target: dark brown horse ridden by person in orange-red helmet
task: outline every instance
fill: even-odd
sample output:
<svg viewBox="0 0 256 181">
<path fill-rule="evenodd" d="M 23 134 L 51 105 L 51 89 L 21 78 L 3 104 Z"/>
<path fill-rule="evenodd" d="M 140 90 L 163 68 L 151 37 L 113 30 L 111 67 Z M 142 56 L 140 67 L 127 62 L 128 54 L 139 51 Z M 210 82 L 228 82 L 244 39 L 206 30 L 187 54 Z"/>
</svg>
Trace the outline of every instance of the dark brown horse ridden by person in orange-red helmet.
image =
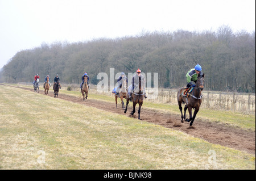
<svg viewBox="0 0 256 181">
<path fill-rule="evenodd" d="M 133 94 L 131 95 L 131 100 L 133 100 L 133 111 L 131 111 L 131 115 L 134 115 L 135 106 L 136 106 L 136 104 L 139 104 L 138 119 L 141 119 L 141 106 L 143 104 L 144 94 L 145 94 L 145 92 L 143 90 L 144 90 L 144 82 L 141 81 L 141 79 L 139 79 L 139 92 L 133 92 Z M 126 98 L 125 113 L 127 111 L 128 104 L 129 104 L 129 95 L 127 95 L 127 98 Z"/>
</svg>

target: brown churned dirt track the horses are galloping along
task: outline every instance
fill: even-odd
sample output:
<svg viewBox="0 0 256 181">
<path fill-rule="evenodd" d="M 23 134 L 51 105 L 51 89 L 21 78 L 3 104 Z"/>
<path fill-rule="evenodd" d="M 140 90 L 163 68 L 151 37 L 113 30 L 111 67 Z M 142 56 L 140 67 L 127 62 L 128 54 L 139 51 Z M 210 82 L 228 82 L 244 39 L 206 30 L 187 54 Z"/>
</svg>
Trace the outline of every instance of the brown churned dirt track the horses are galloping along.
<svg viewBox="0 0 256 181">
<path fill-rule="evenodd" d="M 13 87 L 30 90 L 34 92 L 34 90 L 25 87 Z M 39 93 L 44 94 L 43 90 L 40 90 Z M 48 96 L 53 96 L 53 92 L 49 92 Z M 126 116 L 129 116 L 131 111 L 130 107 L 127 113 L 125 114 L 121 109 L 121 104 L 118 104 L 119 108 L 116 109 L 114 102 L 109 103 L 100 100 L 90 99 L 90 96 L 88 96 L 87 100 L 83 101 L 82 94 L 81 98 L 77 98 L 76 96 L 61 94 L 60 91 L 59 99 L 84 104 L 86 106 L 96 107 L 101 110 L 119 113 L 121 115 Z M 135 112 L 135 115 L 138 115 L 138 110 Z M 195 120 L 195 126 L 191 128 L 189 127 L 188 123 L 180 123 L 180 116 L 171 115 L 170 113 L 160 113 L 152 109 L 148 109 L 145 107 L 143 108 L 143 106 L 141 111 L 141 118 L 142 121 L 147 121 L 149 123 L 162 125 L 166 128 L 179 130 L 187 134 L 190 134 L 194 137 L 202 138 L 203 140 L 206 140 L 213 144 L 219 144 L 222 146 L 227 146 L 229 148 L 247 151 L 247 153 L 250 154 L 255 154 L 255 131 L 245 131 L 243 129 L 230 127 L 229 125 L 225 124 L 200 120 Z"/>
</svg>

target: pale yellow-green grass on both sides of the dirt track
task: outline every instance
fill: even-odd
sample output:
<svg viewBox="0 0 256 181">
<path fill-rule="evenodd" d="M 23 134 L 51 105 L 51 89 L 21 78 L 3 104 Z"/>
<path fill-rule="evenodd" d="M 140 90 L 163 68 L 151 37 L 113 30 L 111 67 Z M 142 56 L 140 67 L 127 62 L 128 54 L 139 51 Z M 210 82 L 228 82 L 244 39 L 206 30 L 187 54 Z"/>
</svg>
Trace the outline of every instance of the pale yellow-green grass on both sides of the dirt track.
<svg viewBox="0 0 256 181">
<path fill-rule="evenodd" d="M 0 169 L 255 169 L 255 155 L 27 90 L 0 85 L 0 108 Z"/>
</svg>

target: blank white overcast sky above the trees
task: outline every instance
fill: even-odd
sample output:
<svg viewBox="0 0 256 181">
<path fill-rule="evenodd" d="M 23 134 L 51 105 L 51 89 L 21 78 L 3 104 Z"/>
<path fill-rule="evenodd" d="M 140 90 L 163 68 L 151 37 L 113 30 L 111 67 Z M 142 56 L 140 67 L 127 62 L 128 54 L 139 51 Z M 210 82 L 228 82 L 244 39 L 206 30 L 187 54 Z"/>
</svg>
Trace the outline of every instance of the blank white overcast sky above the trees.
<svg viewBox="0 0 256 181">
<path fill-rule="evenodd" d="M 0 0 L 0 69 L 43 42 L 216 31 L 223 24 L 255 31 L 255 0 Z"/>
</svg>

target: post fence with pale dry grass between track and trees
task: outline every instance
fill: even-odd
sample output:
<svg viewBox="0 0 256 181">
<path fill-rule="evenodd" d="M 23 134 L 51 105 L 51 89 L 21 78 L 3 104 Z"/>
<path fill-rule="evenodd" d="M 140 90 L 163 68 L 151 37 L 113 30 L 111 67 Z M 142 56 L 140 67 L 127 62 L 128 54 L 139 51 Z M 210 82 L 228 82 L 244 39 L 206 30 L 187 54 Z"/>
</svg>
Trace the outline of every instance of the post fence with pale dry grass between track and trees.
<svg viewBox="0 0 256 181">
<path fill-rule="evenodd" d="M 22 85 L 32 85 L 30 82 L 19 83 Z M 62 83 L 64 90 L 80 91 L 80 85 Z M 113 96 L 111 92 L 98 92 L 96 85 L 90 85 L 90 92 L 93 94 Z M 148 96 L 152 94 L 148 93 Z M 151 97 L 152 98 L 152 97 Z M 255 113 L 255 94 L 241 94 L 238 92 L 213 92 L 203 91 L 203 102 L 201 107 L 213 110 L 237 111 L 243 113 Z M 154 99 L 147 99 L 149 102 L 177 104 L 176 89 L 158 89 L 158 96 Z"/>
</svg>

